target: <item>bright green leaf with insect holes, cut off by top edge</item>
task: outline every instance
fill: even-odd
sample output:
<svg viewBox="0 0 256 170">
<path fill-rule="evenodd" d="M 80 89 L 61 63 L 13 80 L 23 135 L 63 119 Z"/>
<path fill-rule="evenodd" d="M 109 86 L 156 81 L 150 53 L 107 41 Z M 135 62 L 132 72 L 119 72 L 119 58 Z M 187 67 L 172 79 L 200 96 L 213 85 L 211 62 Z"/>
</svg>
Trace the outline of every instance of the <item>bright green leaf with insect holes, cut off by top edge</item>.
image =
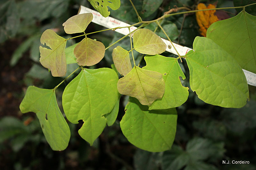
<svg viewBox="0 0 256 170">
<path fill-rule="evenodd" d="M 117 10 L 120 7 L 120 0 L 89 0 L 90 4 L 100 12 L 103 17 L 108 17 L 110 12 L 108 6 L 112 10 Z"/>
</svg>

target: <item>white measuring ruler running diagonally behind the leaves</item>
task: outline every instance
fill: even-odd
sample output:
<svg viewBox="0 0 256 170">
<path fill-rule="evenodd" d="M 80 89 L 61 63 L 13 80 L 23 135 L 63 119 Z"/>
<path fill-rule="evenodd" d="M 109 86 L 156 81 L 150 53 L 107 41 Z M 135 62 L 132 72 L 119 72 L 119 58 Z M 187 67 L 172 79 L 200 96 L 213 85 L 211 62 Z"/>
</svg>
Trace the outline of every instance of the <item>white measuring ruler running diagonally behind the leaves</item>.
<svg viewBox="0 0 256 170">
<path fill-rule="evenodd" d="M 115 18 L 112 18 L 112 17 L 107 17 L 107 18 L 102 17 L 102 15 L 99 12 L 91 10 L 90 8 L 87 8 L 87 7 L 82 6 L 82 5 L 80 6 L 78 14 L 83 14 L 83 13 L 88 13 L 88 12 L 92 13 L 92 15 L 93 15 L 93 19 L 92 19 L 93 23 L 104 26 L 106 28 L 130 26 L 129 24 L 126 24 L 126 23 L 124 23 L 122 21 L 119 21 L 119 20 L 117 20 Z M 130 27 L 130 29 L 131 29 L 131 31 L 134 31 L 135 29 L 137 29 L 137 27 L 132 26 L 132 27 Z M 115 31 L 120 33 L 120 34 L 123 34 L 123 35 L 129 34 L 129 29 L 128 28 L 119 28 L 119 29 L 116 29 Z M 188 53 L 188 51 L 192 50 L 191 48 L 188 48 L 186 46 L 181 46 L 181 45 L 175 44 L 175 43 L 171 44 L 171 42 L 168 41 L 167 39 L 163 39 L 163 38 L 161 38 L 161 39 L 164 41 L 164 43 L 167 46 L 165 51 L 168 51 L 168 52 L 173 53 L 175 55 L 178 55 L 178 54 L 174 50 L 172 44 L 175 46 L 175 48 L 180 53 L 180 55 L 185 55 L 186 53 Z M 252 85 L 252 86 L 256 86 L 256 74 L 254 74 L 250 71 L 244 70 L 244 69 L 243 69 L 243 71 L 244 71 L 247 83 Z"/>
</svg>

